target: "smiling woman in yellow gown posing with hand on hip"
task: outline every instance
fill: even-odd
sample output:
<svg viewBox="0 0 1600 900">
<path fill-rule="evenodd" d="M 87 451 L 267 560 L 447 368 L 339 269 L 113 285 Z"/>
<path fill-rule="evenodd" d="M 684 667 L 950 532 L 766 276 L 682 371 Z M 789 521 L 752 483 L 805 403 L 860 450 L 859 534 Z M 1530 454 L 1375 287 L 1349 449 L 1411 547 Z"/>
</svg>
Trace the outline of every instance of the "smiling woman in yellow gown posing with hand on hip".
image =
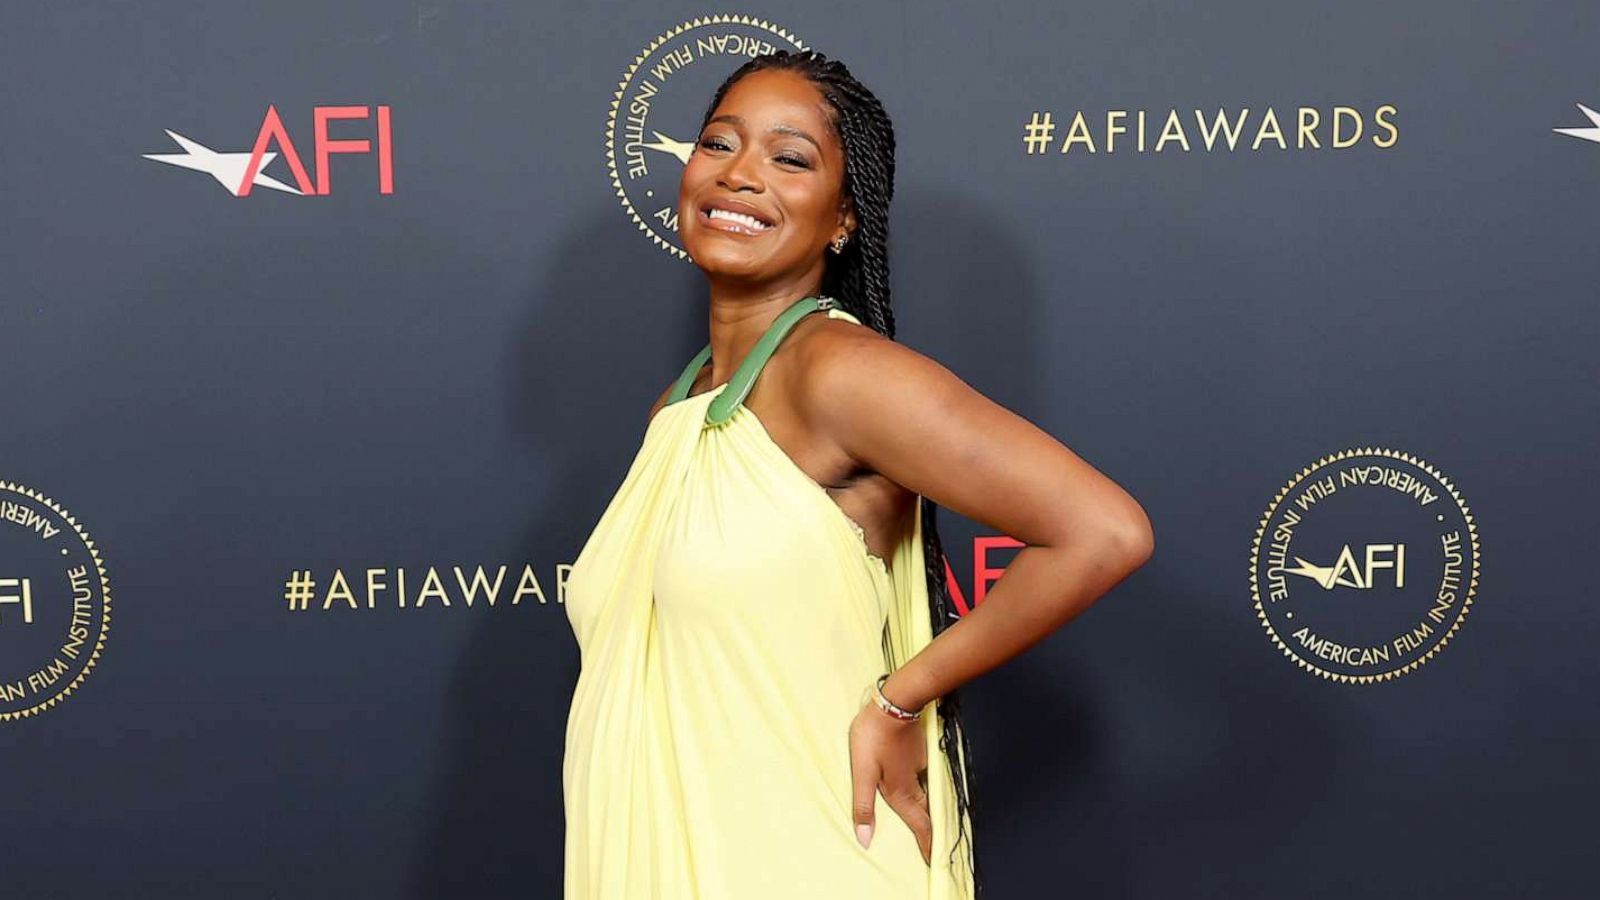
<svg viewBox="0 0 1600 900">
<path fill-rule="evenodd" d="M 1152 552 L 1128 493 L 893 341 L 893 179 L 837 61 L 712 98 L 678 192 L 710 341 L 566 583 L 568 900 L 973 897 L 957 689 Z M 1027 544 L 960 621 L 934 504 Z"/>
</svg>

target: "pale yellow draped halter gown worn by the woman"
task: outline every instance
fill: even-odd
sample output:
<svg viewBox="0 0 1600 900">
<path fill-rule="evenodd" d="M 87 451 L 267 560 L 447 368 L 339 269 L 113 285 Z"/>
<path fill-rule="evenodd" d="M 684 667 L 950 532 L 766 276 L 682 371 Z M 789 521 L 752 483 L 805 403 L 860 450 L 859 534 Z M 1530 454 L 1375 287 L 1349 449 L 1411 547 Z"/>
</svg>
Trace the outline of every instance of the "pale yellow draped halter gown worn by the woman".
<svg viewBox="0 0 1600 900">
<path fill-rule="evenodd" d="M 688 397 L 702 349 L 573 562 L 565 900 L 973 897 L 931 706 L 931 866 L 882 794 L 869 849 L 851 818 L 862 689 L 933 634 L 922 506 L 886 569 L 742 404 L 802 315 L 859 323 L 834 303 L 797 301 L 726 384 Z"/>
</svg>

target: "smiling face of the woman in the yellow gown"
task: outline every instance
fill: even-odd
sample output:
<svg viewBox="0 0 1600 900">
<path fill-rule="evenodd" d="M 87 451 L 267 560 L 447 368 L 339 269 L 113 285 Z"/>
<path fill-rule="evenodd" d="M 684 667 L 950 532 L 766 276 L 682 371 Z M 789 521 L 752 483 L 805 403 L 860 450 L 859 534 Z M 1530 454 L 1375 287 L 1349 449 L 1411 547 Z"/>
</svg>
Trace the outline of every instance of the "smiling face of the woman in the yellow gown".
<svg viewBox="0 0 1600 900">
<path fill-rule="evenodd" d="M 843 179 L 845 151 L 816 86 L 781 69 L 750 72 L 723 94 L 683 167 L 678 237 L 707 275 L 821 279 L 829 242 L 856 227 Z"/>
</svg>

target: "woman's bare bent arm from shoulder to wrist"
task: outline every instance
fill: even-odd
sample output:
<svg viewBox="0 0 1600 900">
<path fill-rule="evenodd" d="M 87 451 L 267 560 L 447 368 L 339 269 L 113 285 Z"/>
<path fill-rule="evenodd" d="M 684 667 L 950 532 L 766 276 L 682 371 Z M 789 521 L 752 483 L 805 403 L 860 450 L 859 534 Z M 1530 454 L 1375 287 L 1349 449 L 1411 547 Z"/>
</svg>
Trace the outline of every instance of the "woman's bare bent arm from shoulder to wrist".
<svg viewBox="0 0 1600 900">
<path fill-rule="evenodd" d="M 1150 520 L 1128 492 L 938 362 L 861 328 L 811 346 L 798 400 L 810 428 L 1027 544 L 978 609 L 890 676 L 893 703 L 920 709 L 1019 655 L 1150 557 Z"/>
</svg>

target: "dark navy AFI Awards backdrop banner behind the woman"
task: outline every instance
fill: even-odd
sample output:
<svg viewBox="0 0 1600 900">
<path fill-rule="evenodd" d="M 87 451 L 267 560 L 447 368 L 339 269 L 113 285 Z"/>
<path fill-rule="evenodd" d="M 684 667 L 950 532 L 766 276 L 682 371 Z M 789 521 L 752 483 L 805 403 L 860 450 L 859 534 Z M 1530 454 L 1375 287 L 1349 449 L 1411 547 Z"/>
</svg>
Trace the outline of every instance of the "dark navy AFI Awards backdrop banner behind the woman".
<svg viewBox="0 0 1600 900">
<path fill-rule="evenodd" d="M 706 340 L 699 117 L 774 48 L 894 120 L 898 340 L 1155 527 L 963 692 L 986 894 L 1592 895 L 1592 3 L 98 3 L 0 42 L 5 897 L 560 895 L 563 581 Z M 941 527 L 966 612 L 1019 544 Z"/>
</svg>

